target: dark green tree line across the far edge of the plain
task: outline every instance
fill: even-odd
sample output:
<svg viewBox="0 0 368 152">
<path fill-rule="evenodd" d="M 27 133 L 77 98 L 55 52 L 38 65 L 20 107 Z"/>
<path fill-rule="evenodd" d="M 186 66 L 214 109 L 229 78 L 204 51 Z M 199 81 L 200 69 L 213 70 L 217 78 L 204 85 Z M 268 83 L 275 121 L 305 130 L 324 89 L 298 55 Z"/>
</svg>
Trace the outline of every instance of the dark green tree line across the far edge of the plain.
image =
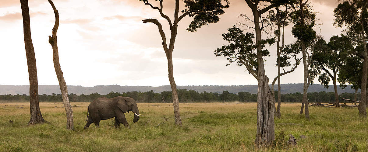
<svg viewBox="0 0 368 152">
<path fill-rule="evenodd" d="M 171 91 L 163 91 L 161 93 L 154 93 L 151 91 L 127 91 L 126 93 L 110 92 L 109 94 L 92 93 L 89 95 L 85 94 L 74 94 L 68 95 L 70 102 L 92 102 L 94 99 L 105 97 L 114 98 L 117 96 L 130 97 L 139 103 L 171 103 L 172 101 Z M 195 90 L 178 89 L 179 103 L 188 102 L 257 102 L 258 94 L 251 94 L 248 92 L 238 92 L 236 94 L 229 93 L 229 91 L 223 91 L 222 93 L 202 92 L 199 93 Z M 301 102 L 302 93 L 288 93 L 281 94 L 282 102 Z M 341 97 L 346 99 L 354 99 L 354 93 L 342 93 Z M 275 99 L 277 98 L 277 91 L 275 90 Z M 360 93 L 357 93 L 357 99 L 360 99 Z M 0 102 L 27 102 L 29 101 L 29 95 L 23 94 L 5 94 L 0 95 Z M 61 94 L 47 95 L 40 94 L 39 102 L 62 102 L 63 97 Z M 335 102 L 335 93 L 320 91 L 308 93 L 309 102 Z"/>
</svg>

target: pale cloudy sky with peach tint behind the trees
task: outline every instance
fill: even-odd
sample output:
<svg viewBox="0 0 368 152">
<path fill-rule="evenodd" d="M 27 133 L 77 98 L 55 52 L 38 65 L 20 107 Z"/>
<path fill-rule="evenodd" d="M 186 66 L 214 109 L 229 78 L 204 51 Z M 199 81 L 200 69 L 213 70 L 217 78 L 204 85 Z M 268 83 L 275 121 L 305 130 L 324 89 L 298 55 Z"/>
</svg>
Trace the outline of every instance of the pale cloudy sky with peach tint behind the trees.
<svg viewBox="0 0 368 152">
<path fill-rule="evenodd" d="M 253 85 L 256 79 L 244 66 L 228 63 L 225 57 L 216 57 L 213 51 L 223 44 L 221 34 L 237 23 L 251 23 L 238 17 L 252 17 L 244 0 L 229 0 L 230 7 L 220 21 L 188 32 L 191 17 L 179 22 L 173 51 L 173 69 L 176 84 L 188 85 Z M 341 28 L 332 25 L 336 0 L 310 0 L 318 13 L 316 18 L 326 41 L 340 35 Z M 53 0 L 59 11 L 60 25 L 57 43 L 61 69 L 67 85 L 92 87 L 96 85 L 163 86 L 169 85 L 167 59 L 156 25 L 143 23 L 154 18 L 162 23 L 167 39 L 170 36 L 167 21 L 157 10 L 137 0 Z M 158 6 L 154 1 L 153 5 Z M 163 12 L 173 18 L 174 0 L 164 0 Z M 183 3 L 180 9 L 183 10 Z M 53 67 L 52 35 L 55 17 L 46 0 L 29 1 L 31 34 L 36 54 L 38 84 L 58 85 Z M 173 19 L 172 19 L 173 20 Z M 291 27 L 285 30 L 285 43 L 296 41 Z M 241 27 L 242 28 L 242 27 Z M 245 27 L 243 27 L 245 29 Z M 245 30 L 244 32 L 252 32 Z M 277 76 L 276 47 L 268 47 L 270 57 L 264 58 L 269 83 Z M 28 85 L 28 69 L 23 37 L 22 14 L 19 0 L 1 0 L 0 3 L 0 84 Z M 315 80 L 318 83 L 318 80 Z M 302 65 L 282 76 L 281 83 L 303 83 Z M 332 83 L 332 81 L 331 81 Z"/>
</svg>

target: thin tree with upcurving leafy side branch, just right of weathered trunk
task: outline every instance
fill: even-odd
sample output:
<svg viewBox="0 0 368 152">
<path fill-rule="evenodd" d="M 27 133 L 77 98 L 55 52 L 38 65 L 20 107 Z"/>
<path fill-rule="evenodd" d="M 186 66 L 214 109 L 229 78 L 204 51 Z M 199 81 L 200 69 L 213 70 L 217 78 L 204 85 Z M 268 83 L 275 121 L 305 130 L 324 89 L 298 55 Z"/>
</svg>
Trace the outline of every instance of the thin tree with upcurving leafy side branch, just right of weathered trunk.
<svg viewBox="0 0 368 152">
<path fill-rule="evenodd" d="M 292 5 L 293 4 L 291 3 L 290 6 Z M 289 9 L 288 4 L 286 4 L 284 7 L 285 7 L 285 11 L 281 11 L 279 7 L 276 7 L 276 13 L 274 13 L 274 11 L 271 10 L 268 15 L 268 18 L 270 18 L 270 22 L 276 23 L 276 26 L 277 26 L 277 30 L 275 30 L 275 35 L 277 39 L 277 42 L 276 42 L 276 45 L 277 45 L 276 46 L 277 76 L 275 77 L 275 79 L 273 79 L 273 82 L 271 84 L 272 86 L 271 90 L 272 90 L 272 93 L 274 94 L 273 87 L 277 80 L 277 111 L 275 115 L 278 118 L 281 117 L 281 84 L 280 84 L 281 76 L 286 75 L 287 73 L 293 72 L 297 68 L 297 66 L 300 64 L 300 60 L 301 60 L 301 58 L 298 59 L 296 57 L 301 52 L 301 49 L 299 49 L 300 47 L 298 47 L 297 44 L 287 45 L 285 48 L 285 43 L 284 43 L 285 26 L 289 25 L 289 23 L 287 22 L 287 18 L 290 12 L 288 11 Z M 282 28 L 282 34 L 281 34 L 281 28 Z M 280 47 L 280 40 L 282 41 L 281 47 Z M 295 60 L 295 65 L 289 71 L 285 71 L 284 68 L 291 65 L 291 62 L 288 61 L 288 59 L 290 58 L 293 58 Z M 281 69 L 283 69 L 284 71 L 283 73 L 281 73 Z"/>
</svg>

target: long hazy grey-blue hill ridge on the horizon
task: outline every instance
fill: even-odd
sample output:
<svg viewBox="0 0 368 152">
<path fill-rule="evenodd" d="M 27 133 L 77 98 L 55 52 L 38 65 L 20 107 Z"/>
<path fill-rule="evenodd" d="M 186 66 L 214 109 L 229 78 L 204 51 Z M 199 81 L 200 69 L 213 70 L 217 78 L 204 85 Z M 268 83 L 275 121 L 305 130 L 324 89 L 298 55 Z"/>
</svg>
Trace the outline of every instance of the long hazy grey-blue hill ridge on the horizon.
<svg viewBox="0 0 368 152">
<path fill-rule="evenodd" d="M 199 93 L 201 92 L 217 92 L 222 93 L 224 90 L 229 91 L 230 93 L 238 93 L 240 91 L 249 92 L 252 94 L 256 94 L 258 90 L 258 85 L 248 85 L 248 86 L 177 86 L 178 89 L 187 89 L 187 90 L 195 90 Z M 277 89 L 277 85 L 275 85 Z M 52 93 L 60 94 L 60 88 L 57 85 L 39 85 L 39 94 L 47 94 L 51 95 Z M 119 86 L 119 85 L 110 85 L 110 86 L 94 86 L 94 87 L 83 87 L 83 86 L 68 86 L 68 92 L 74 93 L 77 95 L 80 94 L 91 94 L 91 93 L 99 93 L 99 94 L 109 94 L 111 91 L 114 92 L 127 92 L 127 91 L 141 91 L 146 92 L 153 90 L 155 93 L 161 93 L 162 91 L 170 91 L 170 86 L 160 86 L 160 87 L 149 87 L 149 86 Z M 330 85 L 328 89 L 324 88 L 321 84 L 313 84 L 308 88 L 308 92 L 333 92 L 333 86 Z M 293 84 L 281 84 L 281 93 L 296 93 L 303 92 L 303 84 L 302 83 L 293 83 Z M 344 90 L 340 89 L 337 86 L 337 92 L 340 93 L 354 93 L 355 91 L 347 86 Z M 9 86 L 9 85 L 0 85 L 0 94 L 26 94 L 29 95 L 29 85 L 24 86 Z"/>
</svg>

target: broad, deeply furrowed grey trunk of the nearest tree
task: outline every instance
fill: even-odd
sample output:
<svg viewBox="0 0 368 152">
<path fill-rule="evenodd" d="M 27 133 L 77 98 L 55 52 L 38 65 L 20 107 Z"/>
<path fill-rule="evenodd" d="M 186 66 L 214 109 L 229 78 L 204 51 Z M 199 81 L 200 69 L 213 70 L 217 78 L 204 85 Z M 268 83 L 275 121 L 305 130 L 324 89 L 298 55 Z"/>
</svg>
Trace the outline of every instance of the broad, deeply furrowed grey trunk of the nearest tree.
<svg viewBox="0 0 368 152">
<path fill-rule="evenodd" d="M 256 43 L 261 41 L 261 29 L 259 27 L 260 12 L 253 9 Z M 258 98 L 257 98 L 257 134 L 255 144 L 257 146 L 269 145 L 275 140 L 275 96 L 268 86 L 268 77 L 262 58 L 261 45 L 257 46 L 258 61 Z"/>
</svg>

